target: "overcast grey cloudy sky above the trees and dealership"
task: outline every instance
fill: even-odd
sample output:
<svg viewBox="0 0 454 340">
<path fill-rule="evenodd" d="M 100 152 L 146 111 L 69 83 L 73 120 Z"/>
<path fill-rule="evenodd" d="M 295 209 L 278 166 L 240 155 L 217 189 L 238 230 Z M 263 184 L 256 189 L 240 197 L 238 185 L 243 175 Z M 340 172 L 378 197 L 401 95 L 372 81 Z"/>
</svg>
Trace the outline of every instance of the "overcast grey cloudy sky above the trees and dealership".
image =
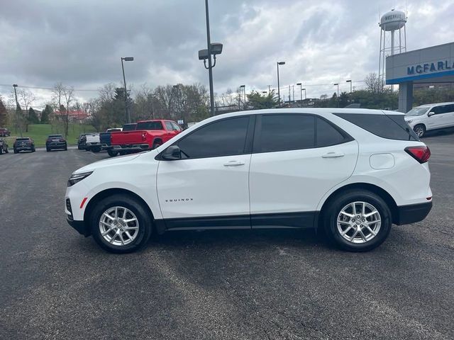
<svg viewBox="0 0 454 340">
<path fill-rule="evenodd" d="M 286 62 L 281 86 L 302 81 L 308 97 L 331 96 L 335 82 L 348 91 L 346 79 L 359 89 L 355 81 L 377 72 L 379 13 L 392 8 L 408 13 L 407 50 L 453 42 L 454 0 L 210 0 L 211 41 L 223 43 L 215 92 L 276 88 L 278 60 Z M 135 89 L 208 87 L 197 58 L 206 48 L 205 25 L 204 0 L 2 0 L 0 95 L 9 96 L 4 85 L 13 83 L 62 81 L 81 90 L 120 84 L 120 57 L 127 56 L 134 62 L 125 64 L 126 80 Z M 49 98 L 47 90 L 33 91 L 41 103 Z"/>
</svg>

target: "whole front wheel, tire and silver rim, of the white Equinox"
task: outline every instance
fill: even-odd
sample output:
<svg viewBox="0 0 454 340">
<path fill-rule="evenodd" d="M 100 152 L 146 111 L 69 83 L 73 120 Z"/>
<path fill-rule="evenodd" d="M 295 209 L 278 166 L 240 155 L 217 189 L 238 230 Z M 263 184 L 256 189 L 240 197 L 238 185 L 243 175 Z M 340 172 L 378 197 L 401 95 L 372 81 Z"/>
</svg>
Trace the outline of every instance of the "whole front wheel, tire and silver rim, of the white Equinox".
<svg viewBox="0 0 454 340">
<path fill-rule="evenodd" d="M 153 230 L 150 213 L 139 200 L 114 195 L 96 203 L 90 220 L 92 235 L 103 249 L 131 253 L 144 246 Z"/>
</svg>

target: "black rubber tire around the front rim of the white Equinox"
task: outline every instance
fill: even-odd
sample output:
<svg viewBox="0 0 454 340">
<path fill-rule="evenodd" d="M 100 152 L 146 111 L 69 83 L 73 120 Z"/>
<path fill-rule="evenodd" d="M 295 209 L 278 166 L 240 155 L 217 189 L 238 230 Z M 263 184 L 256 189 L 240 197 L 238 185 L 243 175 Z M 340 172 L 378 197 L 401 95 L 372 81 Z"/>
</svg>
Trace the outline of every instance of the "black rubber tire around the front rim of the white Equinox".
<svg viewBox="0 0 454 340">
<path fill-rule="evenodd" d="M 116 206 L 131 210 L 138 219 L 138 235 L 130 244 L 123 246 L 110 244 L 106 239 L 104 239 L 104 237 L 102 237 L 101 231 L 99 230 L 99 220 L 101 215 L 103 215 L 109 208 Z M 150 212 L 148 212 L 148 209 L 146 209 L 143 206 L 143 203 L 141 203 L 138 199 L 128 195 L 117 194 L 100 200 L 96 203 L 96 206 L 92 210 L 89 221 L 92 229 L 92 235 L 96 243 L 99 244 L 101 248 L 106 251 L 110 251 L 111 253 L 125 254 L 137 251 L 147 244 L 148 239 L 150 239 L 153 232 L 153 220 L 150 216 Z"/>
</svg>

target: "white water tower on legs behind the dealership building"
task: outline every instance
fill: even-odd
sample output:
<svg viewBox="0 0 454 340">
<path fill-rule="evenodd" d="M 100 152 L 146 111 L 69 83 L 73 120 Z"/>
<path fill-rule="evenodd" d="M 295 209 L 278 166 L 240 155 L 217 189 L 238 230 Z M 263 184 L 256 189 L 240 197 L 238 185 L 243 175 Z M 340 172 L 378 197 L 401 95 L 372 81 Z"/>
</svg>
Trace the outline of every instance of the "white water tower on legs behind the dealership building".
<svg viewBox="0 0 454 340">
<path fill-rule="evenodd" d="M 380 84 L 385 84 L 385 62 L 388 55 L 406 52 L 406 15 L 402 11 L 391 11 L 384 13 L 380 18 L 380 62 L 378 63 L 378 79 Z M 402 37 L 402 28 L 404 29 Z M 398 31 L 398 32 L 396 32 Z M 396 37 L 398 33 L 398 37 Z M 399 38 L 396 44 L 396 38 Z"/>
</svg>

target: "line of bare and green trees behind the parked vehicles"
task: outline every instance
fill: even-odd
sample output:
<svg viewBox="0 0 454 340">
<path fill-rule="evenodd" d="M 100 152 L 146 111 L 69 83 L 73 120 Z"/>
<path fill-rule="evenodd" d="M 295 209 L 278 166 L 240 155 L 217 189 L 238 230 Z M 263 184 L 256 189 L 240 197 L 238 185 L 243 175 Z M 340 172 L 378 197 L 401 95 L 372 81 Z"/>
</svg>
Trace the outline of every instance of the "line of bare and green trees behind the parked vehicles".
<svg viewBox="0 0 454 340">
<path fill-rule="evenodd" d="M 183 125 L 198 122 L 209 117 L 209 96 L 206 87 L 195 83 L 190 85 L 175 84 L 157 86 L 154 89 L 146 84 L 140 89 L 125 92 L 122 86 L 114 83 L 105 84 L 99 89 L 96 98 L 81 102 L 74 95 L 74 88 L 57 83 L 52 88 L 52 99 L 46 103 L 40 117 L 33 109 L 35 96 L 28 89 L 19 89 L 18 101 L 12 93 L 9 96 L 9 107 L 16 110 L 6 110 L 0 98 L 0 126 L 12 126 L 16 130 L 28 131 L 29 124 L 43 123 L 57 126 L 57 130 L 65 136 L 73 112 L 82 113 L 88 117 L 86 123 L 94 126 L 97 131 L 107 128 L 121 127 L 127 121 L 127 112 L 131 121 L 164 118 L 182 120 Z M 439 103 L 454 100 L 454 89 L 415 89 L 414 106 L 424 103 Z M 331 97 L 323 94 L 319 98 L 308 98 L 303 101 L 285 102 L 284 106 L 312 106 L 319 108 L 343 108 L 353 103 L 362 108 L 386 108 L 395 110 L 398 106 L 398 93 L 389 86 L 383 86 L 377 74 L 371 73 L 365 77 L 365 89 L 351 93 L 335 92 Z M 277 94 L 271 91 L 251 91 L 245 96 L 243 89 L 236 91 L 228 89 L 220 96 L 216 95 L 216 113 L 229 111 L 275 108 Z"/>
</svg>

